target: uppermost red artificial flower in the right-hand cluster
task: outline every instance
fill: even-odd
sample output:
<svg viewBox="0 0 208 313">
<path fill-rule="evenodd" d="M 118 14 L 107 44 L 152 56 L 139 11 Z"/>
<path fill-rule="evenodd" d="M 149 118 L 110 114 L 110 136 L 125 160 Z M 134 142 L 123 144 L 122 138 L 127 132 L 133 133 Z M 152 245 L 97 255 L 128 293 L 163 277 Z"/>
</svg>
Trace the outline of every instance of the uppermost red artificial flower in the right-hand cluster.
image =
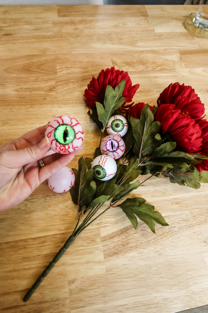
<svg viewBox="0 0 208 313">
<path fill-rule="evenodd" d="M 191 86 L 170 84 L 165 88 L 157 99 L 157 105 L 174 104 L 175 109 L 180 109 L 181 114 L 189 115 L 196 120 L 202 119 L 205 111 L 204 104 Z"/>
</svg>

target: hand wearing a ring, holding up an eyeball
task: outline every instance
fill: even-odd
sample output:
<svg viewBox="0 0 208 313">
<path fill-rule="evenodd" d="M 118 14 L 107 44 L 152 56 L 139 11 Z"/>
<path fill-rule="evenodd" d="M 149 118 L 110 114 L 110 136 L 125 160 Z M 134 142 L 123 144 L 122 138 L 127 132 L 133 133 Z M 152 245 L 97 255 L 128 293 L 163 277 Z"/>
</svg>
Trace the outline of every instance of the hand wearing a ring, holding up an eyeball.
<svg viewBox="0 0 208 313">
<path fill-rule="evenodd" d="M 46 125 L 28 132 L 0 147 L 0 211 L 12 208 L 26 199 L 41 182 L 66 166 L 82 151 L 83 146 L 69 154 L 54 153 L 38 160 L 50 149 L 44 137 Z"/>
</svg>

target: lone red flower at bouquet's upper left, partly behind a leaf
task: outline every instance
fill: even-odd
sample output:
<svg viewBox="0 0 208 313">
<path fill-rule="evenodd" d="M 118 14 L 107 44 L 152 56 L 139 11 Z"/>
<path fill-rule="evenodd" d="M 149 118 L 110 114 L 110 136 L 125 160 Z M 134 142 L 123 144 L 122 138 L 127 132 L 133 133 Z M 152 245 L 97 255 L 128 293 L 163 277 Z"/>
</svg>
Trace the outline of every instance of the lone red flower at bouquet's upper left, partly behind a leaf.
<svg viewBox="0 0 208 313">
<path fill-rule="evenodd" d="M 122 95 L 125 97 L 125 102 L 131 102 L 136 90 L 139 88 L 139 84 L 132 86 L 128 72 L 124 73 L 124 71 L 116 70 L 114 67 L 111 67 L 105 71 L 102 69 L 98 77 L 94 78 L 93 76 L 92 80 L 89 82 L 84 94 L 86 105 L 89 108 L 94 108 L 96 106 L 95 102 L 103 104 L 107 85 L 115 88 L 123 79 L 125 79 L 126 85 Z"/>
</svg>

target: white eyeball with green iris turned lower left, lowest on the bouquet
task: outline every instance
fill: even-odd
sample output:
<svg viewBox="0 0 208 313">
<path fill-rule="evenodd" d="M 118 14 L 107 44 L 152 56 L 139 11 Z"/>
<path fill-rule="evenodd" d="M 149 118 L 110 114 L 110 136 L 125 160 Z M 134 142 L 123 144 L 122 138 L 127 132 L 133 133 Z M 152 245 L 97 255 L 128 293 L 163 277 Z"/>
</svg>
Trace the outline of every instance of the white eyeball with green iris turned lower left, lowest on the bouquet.
<svg viewBox="0 0 208 313">
<path fill-rule="evenodd" d="M 103 154 L 93 160 L 91 169 L 94 171 L 94 177 L 104 181 L 114 177 L 117 165 L 111 156 Z"/>
</svg>

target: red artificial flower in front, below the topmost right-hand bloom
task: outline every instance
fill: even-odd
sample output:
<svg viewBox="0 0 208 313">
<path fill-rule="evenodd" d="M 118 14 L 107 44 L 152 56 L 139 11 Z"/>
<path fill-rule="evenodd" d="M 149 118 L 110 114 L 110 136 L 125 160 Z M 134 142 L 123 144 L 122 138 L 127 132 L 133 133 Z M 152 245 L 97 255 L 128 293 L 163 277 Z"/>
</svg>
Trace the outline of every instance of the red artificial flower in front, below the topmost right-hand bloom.
<svg viewBox="0 0 208 313">
<path fill-rule="evenodd" d="M 174 105 L 162 104 L 157 109 L 155 121 L 161 122 L 161 129 L 177 144 L 177 149 L 186 153 L 201 150 L 201 128 L 196 120 L 181 114 Z"/>
</svg>

